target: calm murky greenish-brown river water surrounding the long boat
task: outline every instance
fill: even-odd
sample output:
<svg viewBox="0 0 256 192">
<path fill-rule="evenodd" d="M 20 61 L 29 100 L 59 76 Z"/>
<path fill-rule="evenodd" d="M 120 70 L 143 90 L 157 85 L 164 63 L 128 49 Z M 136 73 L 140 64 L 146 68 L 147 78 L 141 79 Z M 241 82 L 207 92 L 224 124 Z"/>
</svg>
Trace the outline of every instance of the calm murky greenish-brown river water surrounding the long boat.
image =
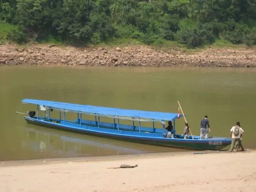
<svg viewBox="0 0 256 192">
<path fill-rule="evenodd" d="M 1 161 L 183 151 L 27 124 L 15 111 L 36 106 L 23 98 L 175 113 L 180 101 L 193 135 L 207 114 L 209 136 L 228 137 L 240 121 L 244 147 L 256 148 L 255 69 L 1 66 L 0 91 Z"/>
</svg>

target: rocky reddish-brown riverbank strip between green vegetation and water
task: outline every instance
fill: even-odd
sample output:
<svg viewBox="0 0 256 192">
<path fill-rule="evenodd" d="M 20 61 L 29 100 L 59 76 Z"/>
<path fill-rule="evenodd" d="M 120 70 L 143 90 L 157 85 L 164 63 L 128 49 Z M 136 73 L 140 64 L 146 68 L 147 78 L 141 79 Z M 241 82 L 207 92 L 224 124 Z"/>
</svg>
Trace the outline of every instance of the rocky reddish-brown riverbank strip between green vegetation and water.
<svg viewBox="0 0 256 192">
<path fill-rule="evenodd" d="M 86 66 L 218 66 L 256 67 L 256 49 L 209 48 L 187 54 L 155 50 L 147 46 L 75 48 L 32 45 L 20 48 L 0 45 L 0 65 L 86 65 Z"/>
</svg>

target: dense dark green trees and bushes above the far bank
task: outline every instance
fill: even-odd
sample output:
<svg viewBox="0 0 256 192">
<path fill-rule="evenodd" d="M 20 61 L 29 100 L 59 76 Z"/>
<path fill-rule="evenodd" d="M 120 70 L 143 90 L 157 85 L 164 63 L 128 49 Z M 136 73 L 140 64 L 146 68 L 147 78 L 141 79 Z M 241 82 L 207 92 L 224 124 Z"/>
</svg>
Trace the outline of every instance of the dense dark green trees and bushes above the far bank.
<svg viewBox="0 0 256 192">
<path fill-rule="evenodd" d="M 15 26 L 8 38 L 17 42 L 256 44 L 255 0 L 0 0 L 0 22 Z"/>
</svg>

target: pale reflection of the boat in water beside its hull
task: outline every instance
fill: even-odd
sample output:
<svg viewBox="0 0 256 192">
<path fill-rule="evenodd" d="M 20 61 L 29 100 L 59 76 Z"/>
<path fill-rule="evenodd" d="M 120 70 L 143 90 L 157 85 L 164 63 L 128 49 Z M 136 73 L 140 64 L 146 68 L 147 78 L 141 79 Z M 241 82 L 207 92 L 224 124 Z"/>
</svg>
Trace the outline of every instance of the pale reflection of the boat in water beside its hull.
<svg viewBox="0 0 256 192">
<path fill-rule="evenodd" d="M 82 139 L 74 136 L 62 136 L 52 130 L 45 131 L 34 128 L 26 128 L 26 132 L 27 138 L 30 139 L 23 140 L 23 148 L 47 153 L 50 154 L 50 157 L 123 155 L 148 152 L 114 145 L 113 143 L 108 144 L 106 141 L 95 141 L 90 136 Z"/>
</svg>

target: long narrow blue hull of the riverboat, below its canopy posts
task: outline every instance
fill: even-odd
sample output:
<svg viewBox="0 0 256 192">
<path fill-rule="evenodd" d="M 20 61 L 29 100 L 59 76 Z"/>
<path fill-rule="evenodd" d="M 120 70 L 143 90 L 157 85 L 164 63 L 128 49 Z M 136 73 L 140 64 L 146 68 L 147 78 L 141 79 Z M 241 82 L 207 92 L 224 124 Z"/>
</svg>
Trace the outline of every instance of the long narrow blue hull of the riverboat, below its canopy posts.
<svg viewBox="0 0 256 192">
<path fill-rule="evenodd" d="M 231 139 L 171 139 L 160 137 L 160 134 L 136 133 L 132 131 L 112 130 L 92 126 L 83 126 L 75 123 L 53 123 L 42 119 L 25 117 L 27 123 L 39 126 L 65 130 L 69 132 L 94 135 L 98 137 L 125 140 L 135 143 L 150 145 L 168 146 L 172 148 L 190 149 L 190 150 L 220 150 L 231 144 Z M 152 136 L 151 136 L 152 135 Z M 153 136 L 154 135 L 154 136 Z M 156 137 L 155 135 L 158 135 Z"/>
</svg>

